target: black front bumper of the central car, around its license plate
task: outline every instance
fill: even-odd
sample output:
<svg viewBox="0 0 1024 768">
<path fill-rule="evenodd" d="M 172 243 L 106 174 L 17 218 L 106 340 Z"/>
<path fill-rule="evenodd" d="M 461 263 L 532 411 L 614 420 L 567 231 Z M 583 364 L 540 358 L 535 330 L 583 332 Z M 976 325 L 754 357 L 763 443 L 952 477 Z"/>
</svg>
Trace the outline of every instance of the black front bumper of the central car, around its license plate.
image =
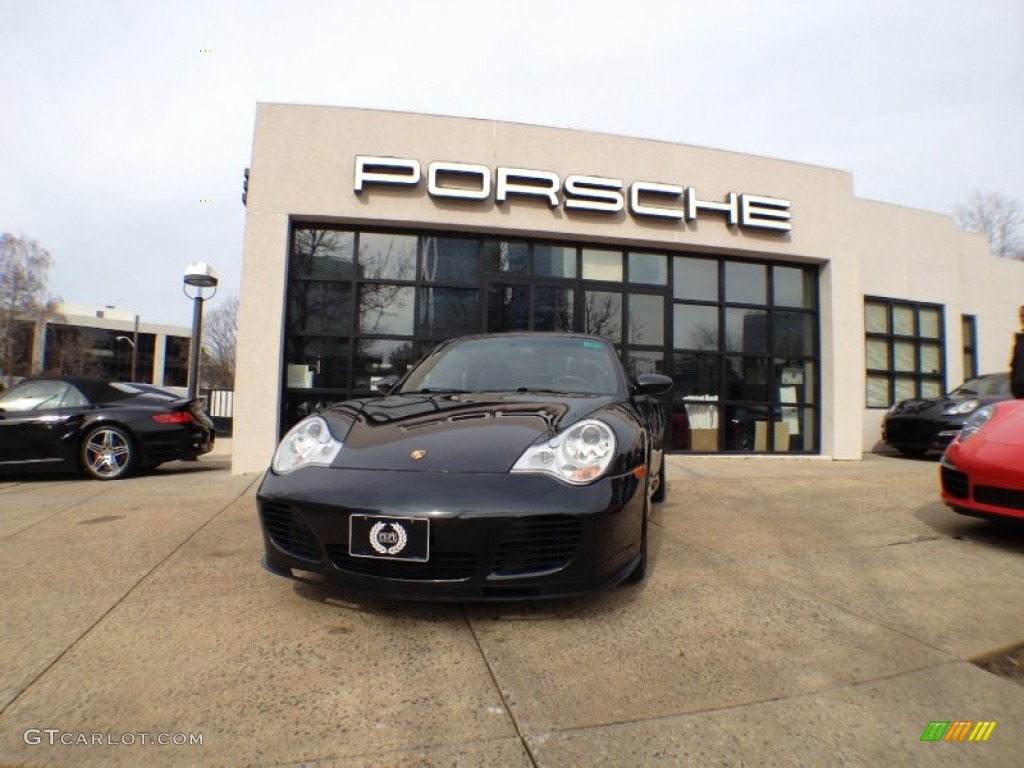
<svg viewBox="0 0 1024 768">
<path fill-rule="evenodd" d="M 646 483 L 632 474 L 568 486 L 540 475 L 267 472 L 257 495 L 264 566 L 321 574 L 379 597 L 502 600 L 585 594 L 640 557 Z M 427 562 L 353 557 L 349 517 L 430 520 Z M 298 571 L 298 573 L 296 572 Z"/>
</svg>

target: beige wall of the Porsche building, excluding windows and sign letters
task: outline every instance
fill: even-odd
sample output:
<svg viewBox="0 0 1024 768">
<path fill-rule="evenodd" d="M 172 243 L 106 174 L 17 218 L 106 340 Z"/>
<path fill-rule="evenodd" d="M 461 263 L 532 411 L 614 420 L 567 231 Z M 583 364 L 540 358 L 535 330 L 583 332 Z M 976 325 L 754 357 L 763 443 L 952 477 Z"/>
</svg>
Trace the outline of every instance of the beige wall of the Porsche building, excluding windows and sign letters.
<svg viewBox="0 0 1024 768">
<path fill-rule="evenodd" d="M 722 201 L 730 193 L 791 201 L 792 230 L 727 226 L 721 215 L 662 221 L 551 208 L 542 200 L 446 201 L 416 187 L 373 185 L 353 191 L 356 156 L 554 171 L 695 187 Z M 233 469 L 266 468 L 278 440 L 283 319 L 291 219 L 520 234 L 627 247 L 729 254 L 819 266 L 821 452 L 858 459 L 877 424 L 864 409 L 863 297 L 947 304 L 947 339 L 957 349 L 963 307 L 978 306 L 982 359 L 991 337 L 1015 315 L 983 309 L 966 265 L 983 261 L 984 243 L 945 216 L 857 200 L 845 171 L 660 141 L 486 120 L 259 104 L 251 162 L 239 324 Z M 1002 274 L 1002 271 L 999 271 Z M 959 286 L 965 286 L 963 289 Z M 980 287 L 977 289 L 980 291 Z M 1009 293 L 1012 293 L 1008 290 Z M 953 336 L 955 331 L 955 337 Z M 947 350 L 947 360 L 954 355 Z M 957 364 L 958 365 L 958 364 Z M 950 374 L 952 373 L 950 369 Z"/>
</svg>

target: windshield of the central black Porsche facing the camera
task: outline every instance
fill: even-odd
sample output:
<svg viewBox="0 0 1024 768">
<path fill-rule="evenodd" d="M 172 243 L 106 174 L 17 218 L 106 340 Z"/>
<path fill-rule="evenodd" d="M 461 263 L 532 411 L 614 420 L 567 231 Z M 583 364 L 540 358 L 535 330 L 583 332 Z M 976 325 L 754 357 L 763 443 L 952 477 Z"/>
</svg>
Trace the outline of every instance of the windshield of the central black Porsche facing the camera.
<svg viewBox="0 0 1024 768">
<path fill-rule="evenodd" d="M 427 355 L 401 386 L 410 392 L 570 392 L 615 394 L 611 348 L 572 336 L 467 339 Z"/>
</svg>

